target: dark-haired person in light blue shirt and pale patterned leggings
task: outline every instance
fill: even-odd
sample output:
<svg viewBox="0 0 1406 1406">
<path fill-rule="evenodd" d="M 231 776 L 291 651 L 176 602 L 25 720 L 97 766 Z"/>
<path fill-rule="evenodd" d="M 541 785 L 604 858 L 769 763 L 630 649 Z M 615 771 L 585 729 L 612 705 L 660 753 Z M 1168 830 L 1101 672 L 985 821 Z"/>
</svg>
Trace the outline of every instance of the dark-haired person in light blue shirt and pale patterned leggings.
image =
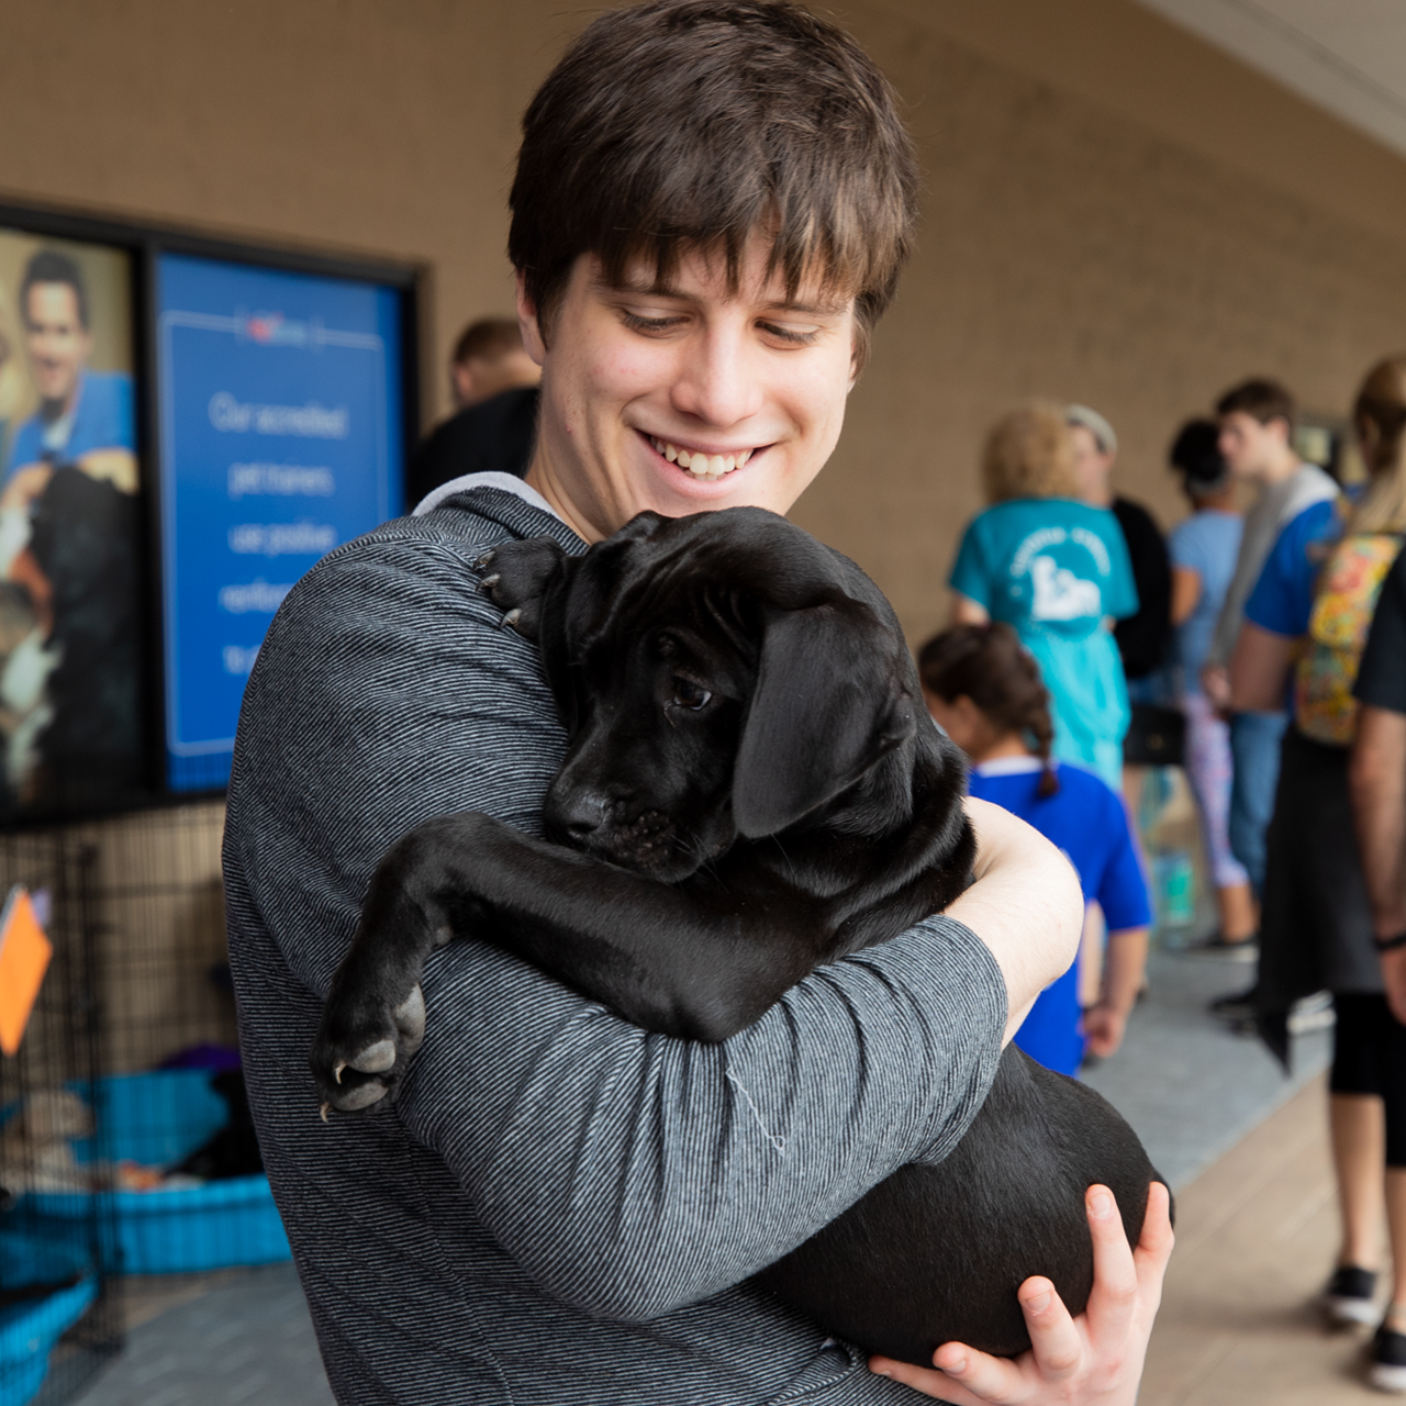
<svg viewBox="0 0 1406 1406">
<path fill-rule="evenodd" d="M 1191 502 L 1171 548 L 1171 623 L 1177 703 L 1187 718 L 1187 778 L 1201 810 L 1201 834 L 1215 880 L 1220 928 L 1209 948 L 1254 957 L 1258 927 L 1250 875 L 1230 848 L 1230 724 L 1206 697 L 1201 671 L 1240 557 L 1244 519 L 1236 510 L 1236 485 L 1220 453 L 1220 426 L 1189 420 L 1171 447 L 1171 467 Z"/>
</svg>

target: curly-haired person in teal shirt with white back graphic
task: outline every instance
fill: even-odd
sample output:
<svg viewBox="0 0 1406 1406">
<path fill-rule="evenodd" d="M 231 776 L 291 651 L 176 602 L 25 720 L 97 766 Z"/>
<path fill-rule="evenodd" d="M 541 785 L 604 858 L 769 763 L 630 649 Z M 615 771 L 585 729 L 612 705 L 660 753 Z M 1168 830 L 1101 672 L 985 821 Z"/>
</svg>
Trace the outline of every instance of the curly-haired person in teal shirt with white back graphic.
<svg viewBox="0 0 1406 1406">
<path fill-rule="evenodd" d="M 997 422 L 981 468 L 993 506 L 957 550 L 952 619 L 1015 628 L 1049 689 L 1054 755 L 1116 790 L 1129 709 L 1111 623 L 1137 610 L 1118 519 L 1078 502 L 1059 406 L 1032 405 Z"/>
</svg>

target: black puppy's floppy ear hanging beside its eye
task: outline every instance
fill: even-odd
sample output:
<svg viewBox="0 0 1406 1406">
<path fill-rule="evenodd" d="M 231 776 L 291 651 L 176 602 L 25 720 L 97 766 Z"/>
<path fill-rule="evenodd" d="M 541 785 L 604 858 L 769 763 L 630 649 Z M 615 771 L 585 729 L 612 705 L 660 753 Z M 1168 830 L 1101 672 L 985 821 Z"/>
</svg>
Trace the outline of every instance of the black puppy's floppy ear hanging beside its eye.
<svg viewBox="0 0 1406 1406">
<path fill-rule="evenodd" d="M 832 800 L 915 728 L 890 628 L 841 598 L 772 614 L 733 772 L 733 820 L 775 835 Z"/>
</svg>

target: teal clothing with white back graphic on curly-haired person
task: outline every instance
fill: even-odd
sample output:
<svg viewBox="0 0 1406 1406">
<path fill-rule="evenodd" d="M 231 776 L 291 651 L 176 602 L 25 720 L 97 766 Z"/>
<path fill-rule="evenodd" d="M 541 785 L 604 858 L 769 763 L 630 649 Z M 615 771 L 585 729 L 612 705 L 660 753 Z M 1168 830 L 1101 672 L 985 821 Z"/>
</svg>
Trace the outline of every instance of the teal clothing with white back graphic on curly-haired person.
<svg viewBox="0 0 1406 1406">
<path fill-rule="evenodd" d="M 1137 610 L 1118 519 L 1069 498 L 1019 498 L 973 519 L 953 591 L 1004 620 L 1050 690 L 1054 755 L 1121 785 L 1128 686 L 1104 620 Z"/>
</svg>

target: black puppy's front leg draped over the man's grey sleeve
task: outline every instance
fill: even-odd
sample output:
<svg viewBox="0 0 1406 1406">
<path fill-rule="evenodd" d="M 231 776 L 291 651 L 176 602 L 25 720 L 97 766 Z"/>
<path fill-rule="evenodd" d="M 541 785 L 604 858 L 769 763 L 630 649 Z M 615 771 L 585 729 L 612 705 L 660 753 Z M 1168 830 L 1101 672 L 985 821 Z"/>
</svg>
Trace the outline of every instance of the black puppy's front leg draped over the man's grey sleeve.
<svg viewBox="0 0 1406 1406">
<path fill-rule="evenodd" d="M 810 912 L 756 922 L 735 894 L 696 896 L 524 835 L 478 813 L 418 825 L 385 856 L 311 1053 L 332 1108 L 395 1088 L 423 1038 L 425 959 L 472 936 L 609 1005 L 644 1029 L 723 1040 L 818 960 Z"/>
</svg>

